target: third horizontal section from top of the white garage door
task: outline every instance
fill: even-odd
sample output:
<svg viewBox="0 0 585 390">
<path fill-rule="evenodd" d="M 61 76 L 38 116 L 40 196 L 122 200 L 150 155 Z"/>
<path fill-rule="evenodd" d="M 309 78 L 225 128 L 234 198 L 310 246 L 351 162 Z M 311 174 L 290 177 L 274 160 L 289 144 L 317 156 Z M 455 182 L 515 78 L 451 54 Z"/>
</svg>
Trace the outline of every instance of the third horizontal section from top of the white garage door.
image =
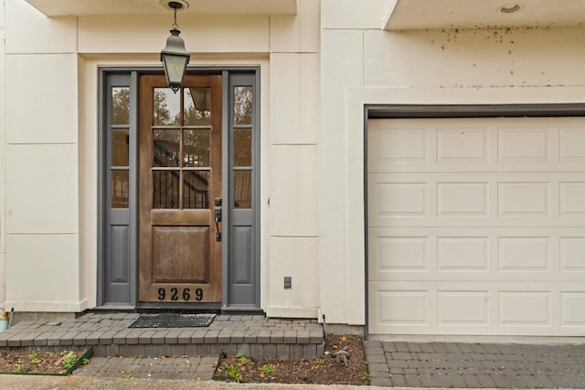
<svg viewBox="0 0 585 390">
<path fill-rule="evenodd" d="M 370 227 L 368 278 L 582 281 L 584 253 L 585 228 Z"/>
</svg>

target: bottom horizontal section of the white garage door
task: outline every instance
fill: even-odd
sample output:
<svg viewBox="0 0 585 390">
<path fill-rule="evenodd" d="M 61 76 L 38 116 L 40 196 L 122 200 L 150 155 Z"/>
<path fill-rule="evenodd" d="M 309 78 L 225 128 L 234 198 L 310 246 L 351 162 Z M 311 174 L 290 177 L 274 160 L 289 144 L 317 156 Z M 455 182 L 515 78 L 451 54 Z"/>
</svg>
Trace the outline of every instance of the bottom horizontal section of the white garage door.
<svg viewBox="0 0 585 390">
<path fill-rule="evenodd" d="M 583 335 L 580 282 L 369 283 L 370 333 Z M 558 302 L 559 304 L 557 304 Z"/>
</svg>

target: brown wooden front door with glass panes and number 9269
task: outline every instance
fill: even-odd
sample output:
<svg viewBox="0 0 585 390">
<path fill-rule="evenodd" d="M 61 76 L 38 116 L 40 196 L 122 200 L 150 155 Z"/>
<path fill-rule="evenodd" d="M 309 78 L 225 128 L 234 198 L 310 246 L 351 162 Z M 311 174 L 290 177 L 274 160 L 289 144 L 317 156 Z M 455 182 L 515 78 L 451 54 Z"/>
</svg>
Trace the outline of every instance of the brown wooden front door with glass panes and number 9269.
<svg viewBox="0 0 585 390">
<path fill-rule="evenodd" d="M 221 302 L 221 103 L 218 75 L 141 77 L 142 302 Z"/>
</svg>

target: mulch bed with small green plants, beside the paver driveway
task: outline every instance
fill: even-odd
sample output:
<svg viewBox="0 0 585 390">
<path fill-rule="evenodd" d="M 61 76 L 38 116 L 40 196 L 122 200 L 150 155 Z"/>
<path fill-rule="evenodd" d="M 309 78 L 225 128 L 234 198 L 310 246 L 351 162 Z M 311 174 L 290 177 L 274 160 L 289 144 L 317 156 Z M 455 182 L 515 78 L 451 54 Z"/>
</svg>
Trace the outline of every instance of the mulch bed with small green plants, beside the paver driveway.
<svg viewBox="0 0 585 390">
<path fill-rule="evenodd" d="M 229 355 L 218 364 L 216 377 L 230 382 L 368 385 L 366 355 L 361 337 L 328 335 L 325 354 L 314 360 L 283 362 Z M 340 353 L 340 351 L 343 351 Z M 346 358 L 340 357 L 344 355 Z"/>
</svg>

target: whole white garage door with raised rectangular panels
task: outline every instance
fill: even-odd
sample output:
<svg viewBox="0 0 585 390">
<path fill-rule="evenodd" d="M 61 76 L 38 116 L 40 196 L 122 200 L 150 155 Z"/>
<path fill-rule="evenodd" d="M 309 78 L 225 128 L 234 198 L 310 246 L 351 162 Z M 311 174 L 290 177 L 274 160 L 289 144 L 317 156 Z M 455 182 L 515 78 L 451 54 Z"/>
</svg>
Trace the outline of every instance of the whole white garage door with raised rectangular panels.
<svg viewBox="0 0 585 390">
<path fill-rule="evenodd" d="M 367 135 L 371 334 L 585 335 L 585 118 Z"/>
</svg>

